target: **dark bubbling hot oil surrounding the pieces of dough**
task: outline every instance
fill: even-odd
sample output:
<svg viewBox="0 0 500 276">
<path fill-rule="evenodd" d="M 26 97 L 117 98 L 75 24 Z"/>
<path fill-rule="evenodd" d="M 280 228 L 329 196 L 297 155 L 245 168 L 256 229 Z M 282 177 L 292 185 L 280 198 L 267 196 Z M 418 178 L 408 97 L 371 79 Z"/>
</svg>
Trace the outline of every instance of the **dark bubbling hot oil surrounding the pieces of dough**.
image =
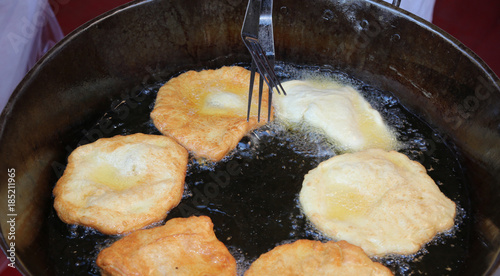
<svg viewBox="0 0 500 276">
<path fill-rule="evenodd" d="M 467 253 L 470 227 L 468 194 L 455 152 L 442 136 L 408 112 L 390 93 L 379 91 L 345 74 L 319 67 L 279 64 L 283 80 L 304 76 L 335 79 L 356 87 L 397 133 L 400 152 L 421 162 L 441 191 L 459 206 L 449 233 L 438 235 L 412 256 L 376 260 L 396 275 L 454 275 Z M 160 134 L 149 117 L 158 82 L 130 98 L 115 101 L 92 129 L 111 123 L 103 136 L 137 132 Z M 125 112 L 128 108 L 128 113 Z M 125 115 L 124 115 L 125 114 Z M 75 137 L 76 147 L 86 141 Z M 238 262 L 242 274 L 261 254 L 297 239 L 327 241 L 300 209 L 298 193 L 304 175 L 319 163 L 342 154 L 321 133 L 272 123 L 245 136 L 222 161 L 191 158 L 181 203 L 166 220 L 207 215 L 214 230 Z M 121 236 L 106 236 L 85 227 L 68 226 L 53 210 L 45 226 L 52 237 L 51 261 L 61 275 L 99 275 L 97 254 Z"/>
</svg>

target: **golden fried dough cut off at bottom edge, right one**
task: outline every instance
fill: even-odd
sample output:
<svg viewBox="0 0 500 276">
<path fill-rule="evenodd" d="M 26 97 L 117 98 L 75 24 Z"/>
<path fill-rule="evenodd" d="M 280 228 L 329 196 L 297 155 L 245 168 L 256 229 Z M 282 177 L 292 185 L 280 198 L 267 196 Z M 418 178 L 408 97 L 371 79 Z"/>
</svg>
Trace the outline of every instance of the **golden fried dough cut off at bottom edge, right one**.
<svg viewBox="0 0 500 276">
<path fill-rule="evenodd" d="M 298 240 L 262 254 L 245 272 L 245 276 L 253 275 L 377 276 L 392 272 L 346 241 Z"/>
</svg>

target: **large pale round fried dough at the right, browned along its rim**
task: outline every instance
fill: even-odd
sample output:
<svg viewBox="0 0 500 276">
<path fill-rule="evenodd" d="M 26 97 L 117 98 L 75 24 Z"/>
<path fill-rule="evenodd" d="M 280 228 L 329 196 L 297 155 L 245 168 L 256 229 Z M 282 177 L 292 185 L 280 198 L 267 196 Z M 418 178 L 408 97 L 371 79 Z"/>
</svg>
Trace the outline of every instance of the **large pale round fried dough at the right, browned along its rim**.
<svg viewBox="0 0 500 276">
<path fill-rule="evenodd" d="M 420 163 L 380 149 L 322 162 L 305 176 L 300 203 L 327 236 L 371 256 L 416 253 L 456 211 Z"/>
</svg>

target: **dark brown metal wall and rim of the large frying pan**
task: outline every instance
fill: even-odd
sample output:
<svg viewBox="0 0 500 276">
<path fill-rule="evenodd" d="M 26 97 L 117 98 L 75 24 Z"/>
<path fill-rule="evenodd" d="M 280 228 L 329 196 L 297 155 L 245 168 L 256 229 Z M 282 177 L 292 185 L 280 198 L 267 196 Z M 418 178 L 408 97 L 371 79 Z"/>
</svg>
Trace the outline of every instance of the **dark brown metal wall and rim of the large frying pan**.
<svg viewBox="0 0 500 276">
<path fill-rule="evenodd" d="M 133 95 L 144 85 L 248 62 L 239 35 L 245 7 L 242 0 L 134 1 L 80 27 L 26 75 L 0 119 L 1 245 L 10 255 L 15 237 L 23 274 L 56 274 L 48 248 L 70 247 L 51 237 L 47 224 L 54 223 L 51 191 L 75 139 L 106 134 L 109 126 L 89 129 L 110 106 L 133 114 Z M 341 71 L 390 91 L 442 134 L 457 152 L 470 203 L 467 250 L 453 273 L 493 274 L 500 249 L 498 77 L 459 41 L 383 2 L 276 0 L 274 14 L 278 61 Z M 8 206 L 12 182 L 15 204 Z"/>
</svg>

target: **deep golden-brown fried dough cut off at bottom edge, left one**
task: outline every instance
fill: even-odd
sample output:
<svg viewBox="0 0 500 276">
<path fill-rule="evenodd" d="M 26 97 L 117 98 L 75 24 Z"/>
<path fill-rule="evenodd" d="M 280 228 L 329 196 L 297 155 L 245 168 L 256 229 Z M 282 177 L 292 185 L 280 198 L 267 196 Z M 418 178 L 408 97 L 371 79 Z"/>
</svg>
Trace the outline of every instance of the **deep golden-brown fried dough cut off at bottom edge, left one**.
<svg viewBox="0 0 500 276">
<path fill-rule="evenodd" d="M 103 275 L 236 275 L 234 257 L 205 216 L 138 230 L 102 250 L 97 265 Z"/>
</svg>

